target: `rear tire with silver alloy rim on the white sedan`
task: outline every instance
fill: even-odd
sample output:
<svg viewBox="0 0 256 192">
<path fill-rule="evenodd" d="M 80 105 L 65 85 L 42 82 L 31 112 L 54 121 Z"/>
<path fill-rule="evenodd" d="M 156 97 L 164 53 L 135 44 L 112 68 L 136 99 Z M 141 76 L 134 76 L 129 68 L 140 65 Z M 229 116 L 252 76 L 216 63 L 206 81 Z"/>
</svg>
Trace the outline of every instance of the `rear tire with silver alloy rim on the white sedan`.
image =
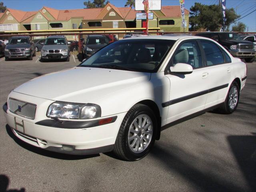
<svg viewBox="0 0 256 192">
<path fill-rule="evenodd" d="M 237 106 L 239 101 L 240 88 L 237 82 L 233 81 L 226 96 L 225 102 L 220 106 L 219 111 L 223 114 L 232 114 Z"/>
</svg>

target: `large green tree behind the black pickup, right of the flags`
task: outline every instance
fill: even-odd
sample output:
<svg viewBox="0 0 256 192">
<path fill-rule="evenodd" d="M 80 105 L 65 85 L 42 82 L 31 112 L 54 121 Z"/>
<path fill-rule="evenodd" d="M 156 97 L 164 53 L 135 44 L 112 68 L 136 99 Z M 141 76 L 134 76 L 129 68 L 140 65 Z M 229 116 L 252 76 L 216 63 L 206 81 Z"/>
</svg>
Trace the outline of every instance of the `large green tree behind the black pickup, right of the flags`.
<svg viewBox="0 0 256 192">
<path fill-rule="evenodd" d="M 239 15 L 236 14 L 233 8 L 226 9 L 225 28 L 229 28 Z M 219 31 L 222 26 L 222 8 L 220 5 L 204 5 L 195 3 L 190 8 L 189 24 L 190 31 L 196 31 L 200 28 L 205 28 L 210 31 Z"/>
</svg>

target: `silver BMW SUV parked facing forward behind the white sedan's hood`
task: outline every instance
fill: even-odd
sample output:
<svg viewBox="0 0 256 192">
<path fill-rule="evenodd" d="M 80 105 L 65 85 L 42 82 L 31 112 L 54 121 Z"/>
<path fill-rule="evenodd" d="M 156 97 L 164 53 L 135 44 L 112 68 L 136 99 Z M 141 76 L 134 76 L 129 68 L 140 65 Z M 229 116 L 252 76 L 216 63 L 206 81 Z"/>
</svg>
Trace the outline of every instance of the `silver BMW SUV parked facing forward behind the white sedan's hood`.
<svg viewBox="0 0 256 192">
<path fill-rule="evenodd" d="M 70 42 L 67 41 L 65 36 L 49 36 L 42 47 L 41 60 L 65 59 L 69 61 L 69 45 Z"/>
</svg>

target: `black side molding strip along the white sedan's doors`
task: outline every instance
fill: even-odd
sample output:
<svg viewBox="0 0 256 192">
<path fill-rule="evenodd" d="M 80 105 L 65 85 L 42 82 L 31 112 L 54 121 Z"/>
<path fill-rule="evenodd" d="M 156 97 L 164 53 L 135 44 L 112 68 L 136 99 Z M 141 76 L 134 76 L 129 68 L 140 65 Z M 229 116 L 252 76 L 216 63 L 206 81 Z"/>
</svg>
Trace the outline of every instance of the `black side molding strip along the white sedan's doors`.
<svg viewBox="0 0 256 192">
<path fill-rule="evenodd" d="M 170 105 L 182 102 L 182 101 L 186 101 L 188 99 L 192 99 L 192 98 L 195 98 L 195 97 L 198 97 L 198 96 L 202 96 L 204 94 L 208 94 L 210 92 L 214 92 L 214 91 L 226 88 L 226 87 L 228 87 L 228 84 L 224 84 L 224 85 L 214 87 L 214 88 L 210 88 L 208 90 L 204 90 L 204 91 L 194 93 L 194 94 L 191 94 L 191 95 L 188 95 L 188 96 L 184 96 L 184 97 L 180 97 L 180 98 L 177 98 L 177 99 L 174 99 L 174 100 L 170 100 L 170 101 L 162 103 L 162 107 L 167 107 L 167 106 L 170 106 Z"/>
</svg>

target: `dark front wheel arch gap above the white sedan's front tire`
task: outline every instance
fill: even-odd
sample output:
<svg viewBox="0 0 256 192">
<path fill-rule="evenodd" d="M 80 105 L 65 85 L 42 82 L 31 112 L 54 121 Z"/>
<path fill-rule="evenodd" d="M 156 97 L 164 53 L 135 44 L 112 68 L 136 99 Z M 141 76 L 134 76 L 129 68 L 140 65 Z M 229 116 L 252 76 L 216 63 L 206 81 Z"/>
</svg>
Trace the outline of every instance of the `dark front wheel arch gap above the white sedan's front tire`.
<svg viewBox="0 0 256 192">
<path fill-rule="evenodd" d="M 156 120 L 157 120 L 156 140 L 159 140 L 160 139 L 160 133 L 161 133 L 161 116 L 160 116 L 160 111 L 159 111 L 159 108 L 158 108 L 157 104 L 152 100 L 142 100 L 142 101 L 140 101 L 136 104 L 144 104 L 144 105 L 148 106 L 149 108 L 152 109 L 152 111 L 156 115 Z"/>
</svg>

